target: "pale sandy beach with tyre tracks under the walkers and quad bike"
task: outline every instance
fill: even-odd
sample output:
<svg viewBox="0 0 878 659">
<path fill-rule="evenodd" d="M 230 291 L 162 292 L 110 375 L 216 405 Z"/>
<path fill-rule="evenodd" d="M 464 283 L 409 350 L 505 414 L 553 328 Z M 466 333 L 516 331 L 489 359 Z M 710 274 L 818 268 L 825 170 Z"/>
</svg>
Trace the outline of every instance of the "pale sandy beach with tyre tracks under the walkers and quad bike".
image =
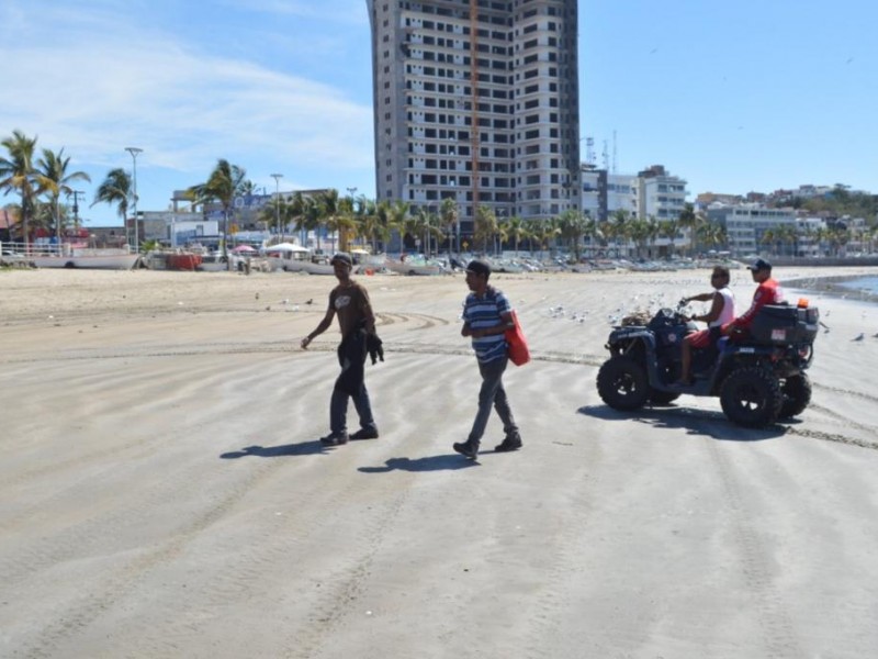
<svg viewBox="0 0 878 659">
<path fill-rule="evenodd" d="M 359 277 L 381 437 L 327 449 L 338 335 L 299 342 L 335 279 L 0 272 L 0 657 L 875 656 L 878 304 L 809 295 L 790 423 L 597 394 L 611 322 L 708 272 L 495 276 L 533 353 L 505 377 L 525 447 L 493 453 L 495 416 L 475 462 L 460 275 Z"/>
</svg>

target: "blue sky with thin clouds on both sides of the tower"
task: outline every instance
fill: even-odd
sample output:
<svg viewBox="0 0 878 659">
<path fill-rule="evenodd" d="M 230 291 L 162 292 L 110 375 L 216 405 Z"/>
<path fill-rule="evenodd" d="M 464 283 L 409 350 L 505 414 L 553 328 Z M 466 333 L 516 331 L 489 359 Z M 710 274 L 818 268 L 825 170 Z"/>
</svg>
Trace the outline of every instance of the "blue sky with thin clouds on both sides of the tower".
<svg viewBox="0 0 878 659">
<path fill-rule="evenodd" d="M 582 135 L 619 174 L 705 191 L 878 191 L 878 3 L 582 0 Z M 137 159 L 140 210 L 218 158 L 257 186 L 374 197 L 365 0 L 0 0 L 0 135 L 92 177 Z M 614 139 L 615 135 L 615 139 Z M 585 143 L 583 143 L 585 158 Z M 0 203 L 13 201 L 0 198 Z"/>
</svg>

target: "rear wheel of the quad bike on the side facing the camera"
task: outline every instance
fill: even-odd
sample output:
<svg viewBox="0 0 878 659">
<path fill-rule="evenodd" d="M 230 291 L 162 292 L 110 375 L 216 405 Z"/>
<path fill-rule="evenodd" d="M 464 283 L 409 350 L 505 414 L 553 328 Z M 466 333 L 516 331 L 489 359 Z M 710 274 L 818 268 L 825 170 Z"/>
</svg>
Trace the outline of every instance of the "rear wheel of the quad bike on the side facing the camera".
<svg viewBox="0 0 878 659">
<path fill-rule="evenodd" d="M 770 371 L 758 367 L 732 371 L 720 390 L 722 411 L 730 421 L 747 427 L 774 423 L 780 414 L 784 396 Z"/>
</svg>

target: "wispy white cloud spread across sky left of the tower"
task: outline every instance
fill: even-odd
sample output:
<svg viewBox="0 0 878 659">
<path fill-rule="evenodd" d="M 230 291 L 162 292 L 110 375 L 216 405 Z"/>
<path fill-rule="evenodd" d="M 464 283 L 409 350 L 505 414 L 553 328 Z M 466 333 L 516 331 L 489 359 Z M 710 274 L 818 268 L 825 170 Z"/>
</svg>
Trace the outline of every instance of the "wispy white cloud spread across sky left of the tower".
<svg viewBox="0 0 878 659">
<path fill-rule="evenodd" d="M 281 7 L 307 8 L 261 4 Z M 181 171 L 260 153 L 306 167 L 327 160 L 372 167 L 371 104 L 196 48 L 115 8 L 0 10 L 0 38 L 15 63 L 0 70 L 0 130 L 21 129 L 43 146 L 65 146 L 77 160 L 113 166 L 121 148 L 134 144 L 151 164 Z M 26 38 L 10 38 L 15 30 Z"/>
</svg>

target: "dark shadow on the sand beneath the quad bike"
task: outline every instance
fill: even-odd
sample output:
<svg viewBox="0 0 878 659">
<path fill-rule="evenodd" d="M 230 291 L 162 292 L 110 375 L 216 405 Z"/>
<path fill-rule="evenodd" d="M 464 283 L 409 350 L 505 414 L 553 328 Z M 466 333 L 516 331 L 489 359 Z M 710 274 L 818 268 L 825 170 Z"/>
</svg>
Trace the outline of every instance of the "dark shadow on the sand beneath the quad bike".
<svg viewBox="0 0 878 659">
<path fill-rule="evenodd" d="M 633 421 L 656 428 L 686 431 L 689 435 L 708 436 L 721 442 L 764 442 L 787 434 L 787 428 L 778 423 L 764 428 L 745 428 L 734 425 L 725 418 L 722 412 L 693 410 L 676 405 L 643 407 L 635 412 L 619 412 L 606 405 L 585 405 L 577 412 L 604 421 Z M 785 423 L 795 423 L 795 421 Z"/>
</svg>

